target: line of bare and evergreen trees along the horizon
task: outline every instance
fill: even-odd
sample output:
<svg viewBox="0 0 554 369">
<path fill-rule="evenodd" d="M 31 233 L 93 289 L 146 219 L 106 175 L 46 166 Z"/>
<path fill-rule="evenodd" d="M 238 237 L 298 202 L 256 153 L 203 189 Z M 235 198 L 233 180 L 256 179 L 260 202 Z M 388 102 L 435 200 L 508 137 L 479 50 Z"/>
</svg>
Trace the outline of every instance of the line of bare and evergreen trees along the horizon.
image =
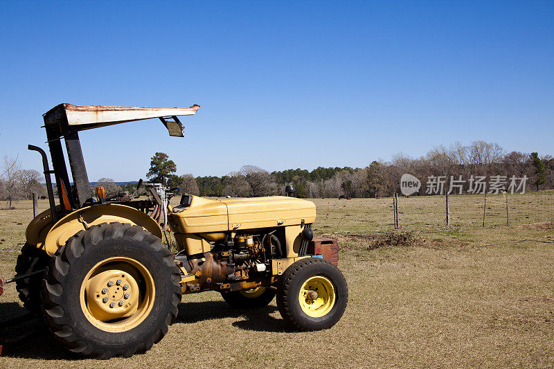
<svg viewBox="0 0 554 369">
<path fill-rule="evenodd" d="M 31 193 L 46 195 L 42 174 L 21 168 L 21 163 L 7 156 L 3 158 L 0 175 L 0 200 L 30 199 Z M 177 165 L 163 152 L 152 156 L 146 177 L 154 183 L 170 183 L 182 193 L 205 197 L 260 197 L 285 195 L 285 186 L 292 184 L 297 197 L 388 197 L 400 193 L 400 178 L 409 173 L 420 179 L 422 187 L 415 195 L 428 195 L 425 182 L 429 177 L 443 177 L 445 187 L 454 179 L 464 179 L 461 192 L 469 192 L 472 177 L 501 176 L 526 177 L 524 190 L 554 188 L 554 158 L 537 152 L 506 152 L 497 143 L 475 141 L 470 145 L 454 143 L 438 145 L 427 154 L 413 158 L 402 152 L 391 161 L 377 160 L 364 168 L 288 169 L 268 172 L 255 165 L 244 165 L 239 170 L 217 176 L 195 177 L 177 175 Z M 133 193 L 136 183 L 118 185 L 113 179 L 101 178 L 91 186 L 103 186 L 108 195 L 120 191 Z"/>
</svg>

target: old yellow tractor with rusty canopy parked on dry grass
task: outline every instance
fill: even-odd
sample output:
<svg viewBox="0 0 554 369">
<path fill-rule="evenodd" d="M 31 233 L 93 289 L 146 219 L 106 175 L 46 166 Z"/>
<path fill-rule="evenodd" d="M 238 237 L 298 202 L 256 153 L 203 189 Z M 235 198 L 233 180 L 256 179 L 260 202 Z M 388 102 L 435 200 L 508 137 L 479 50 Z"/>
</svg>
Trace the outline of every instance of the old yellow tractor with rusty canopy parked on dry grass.
<svg viewBox="0 0 554 369">
<path fill-rule="evenodd" d="M 183 194 L 172 207 L 179 188 L 168 183 L 145 183 L 147 199 L 106 196 L 103 188 L 91 196 L 78 132 L 159 118 L 170 136 L 183 137 L 177 117 L 198 109 L 61 104 L 44 114 L 53 170 L 44 150 L 29 149 L 42 154 L 50 208 L 28 225 L 10 281 L 65 348 L 103 359 L 145 352 L 175 321 L 181 295 L 202 291 L 219 291 L 241 309 L 265 307 L 276 296 L 280 314 L 298 330 L 329 328 L 341 318 L 348 287 L 336 266 L 337 242 L 314 239 L 311 201 Z M 163 244 L 168 229 L 177 253 Z"/>
</svg>

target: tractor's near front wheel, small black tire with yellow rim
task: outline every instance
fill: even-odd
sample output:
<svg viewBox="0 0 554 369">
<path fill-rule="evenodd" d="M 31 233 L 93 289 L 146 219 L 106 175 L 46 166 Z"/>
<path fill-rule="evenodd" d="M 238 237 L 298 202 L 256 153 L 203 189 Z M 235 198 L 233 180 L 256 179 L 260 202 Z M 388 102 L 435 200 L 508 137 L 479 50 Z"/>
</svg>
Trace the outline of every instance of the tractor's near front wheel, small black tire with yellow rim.
<svg viewBox="0 0 554 369">
<path fill-rule="evenodd" d="M 298 330 L 332 327 L 344 313 L 348 287 L 339 268 L 321 258 L 305 258 L 285 270 L 277 287 L 277 307 Z"/>
</svg>

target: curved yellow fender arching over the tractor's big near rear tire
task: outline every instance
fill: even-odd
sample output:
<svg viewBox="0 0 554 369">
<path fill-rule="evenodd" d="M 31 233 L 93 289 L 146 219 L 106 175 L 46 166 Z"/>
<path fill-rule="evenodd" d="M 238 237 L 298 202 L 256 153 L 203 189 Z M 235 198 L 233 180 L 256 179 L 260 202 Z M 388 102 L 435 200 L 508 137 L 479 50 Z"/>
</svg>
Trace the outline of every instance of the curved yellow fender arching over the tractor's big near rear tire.
<svg viewBox="0 0 554 369">
<path fill-rule="evenodd" d="M 80 208 L 66 215 L 50 228 L 44 239 L 44 245 L 39 246 L 37 243 L 37 247 L 44 247 L 44 251 L 53 256 L 57 249 L 75 233 L 89 226 L 112 222 L 141 226 L 152 235 L 162 237 L 161 228 L 157 222 L 140 210 L 126 205 L 104 204 Z"/>
</svg>

